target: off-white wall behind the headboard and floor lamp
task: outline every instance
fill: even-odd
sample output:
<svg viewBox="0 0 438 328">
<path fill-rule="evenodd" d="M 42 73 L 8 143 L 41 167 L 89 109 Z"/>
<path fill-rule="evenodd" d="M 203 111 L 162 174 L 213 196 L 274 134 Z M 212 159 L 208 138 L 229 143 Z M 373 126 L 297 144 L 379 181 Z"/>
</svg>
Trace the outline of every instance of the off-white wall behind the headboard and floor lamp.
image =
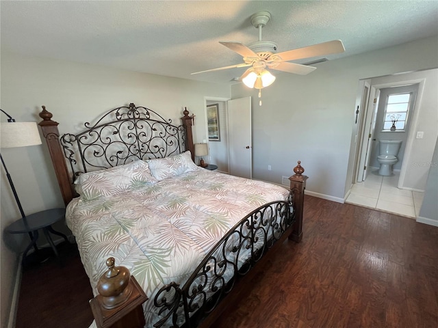
<svg viewBox="0 0 438 328">
<path fill-rule="evenodd" d="M 201 83 L 68 61 L 1 53 L 1 109 L 17 121 L 40 122 L 41 105 L 53 113 L 60 133 L 75 131 L 105 111 L 134 102 L 181 124 L 183 107 L 196 115 L 194 141 L 205 133 L 204 96 L 229 98 L 229 85 Z M 6 82 L 7 81 L 7 82 Z M 1 115 L 5 122 L 5 115 Z M 198 124 L 200 122 L 201 124 Z M 25 213 L 64 206 L 47 146 L 2 149 Z M 20 217 L 1 169 L 1 230 Z M 27 236 L 25 236 L 27 237 Z M 8 236 L 5 236 L 8 238 Z M 26 241 L 27 242 L 27 241 Z M 5 244 L 8 244 L 6 246 Z M 1 327 L 8 315 L 16 254 L 1 241 Z"/>
</svg>

